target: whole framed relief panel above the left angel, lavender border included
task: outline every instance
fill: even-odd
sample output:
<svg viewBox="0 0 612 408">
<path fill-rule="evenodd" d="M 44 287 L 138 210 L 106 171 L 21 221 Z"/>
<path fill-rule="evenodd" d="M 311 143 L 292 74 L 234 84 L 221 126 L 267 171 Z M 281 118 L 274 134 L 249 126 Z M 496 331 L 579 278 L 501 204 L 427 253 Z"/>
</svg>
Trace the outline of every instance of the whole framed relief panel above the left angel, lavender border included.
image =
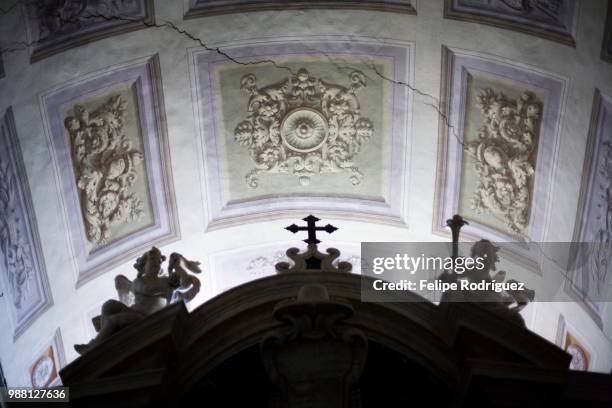
<svg viewBox="0 0 612 408">
<path fill-rule="evenodd" d="M 78 282 L 178 236 L 157 57 L 41 97 Z"/>
</svg>

